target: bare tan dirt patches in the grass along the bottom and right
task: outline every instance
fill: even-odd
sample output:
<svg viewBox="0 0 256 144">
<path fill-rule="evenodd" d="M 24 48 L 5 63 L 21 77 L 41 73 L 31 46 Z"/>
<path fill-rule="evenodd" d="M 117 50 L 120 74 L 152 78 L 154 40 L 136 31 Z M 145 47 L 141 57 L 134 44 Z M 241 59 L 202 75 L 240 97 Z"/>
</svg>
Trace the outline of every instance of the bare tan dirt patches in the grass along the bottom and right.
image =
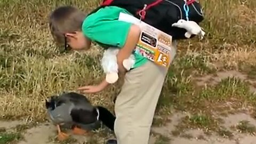
<svg viewBox="0 0 256 144">
<path fill-rule="evenodd" d="M 215 84 L 219 82 L 222 78 L 226 78 L 228 76 L 235 76 L 241 79 L 247 79 L 246 75 L 241 74 L 237 71 L 227 71 L 227 72 L 219 72 L 217 75 L 211 76 L 207 75 L 205 77 L 200 77 L 198 79 L 198 85 L 204 85 L 205 82 L 211 81 L 211 84 Z M 255 81 L 249 81 L 252 85 L 255 85 Z M 256 92 L 255 87 L 251 87 L 251 91 Z M 175 137 L 172 134 L 172 131 L 175 130 L 175 125 L 177 125 L 182 117 L 186 116 L 186 114 L 177 112 L 170 116 L 171 122 L 168 123 L 164 127 L 153 127 L 152 131 L 156 133 L 160 133 L 161 135 L 165 135 L 166 137 L 170 138 L 168 143 L 179 143 L 179 144 L 218 144 L 218 143 L 225 143 L 225 144 L 252 144 L 255 143 L 256 137 L 251 134 L 240 133 L 238 131 L 230 129 L 230 126 L 237 125 L 241 121 L 249 121 L 252 125 L 256 126 L 256 119 L 252 118 L 247 113 L 236 113 L 230 114 L 228 116 L 221 116 L 220 118 L 223 119 L 224 123 L 222 127 L 225 127 L 231 133 L 233 133 L 233 138 L 224 138 L 220 137 L 217 133 L 213 133 L 211 135 L 206 135 L 202 130 L 189 130 L 185 133 L 182 133 L 183 137 Z M 25 124 L 25 122 L 20 121 L 12 121 L 12 122 L 1 122 L 0 127 L 4 127 L 5 129 L 11 129 L 18 124 Z M 24 140 L 18 142 L 18 144 L 53 144 L 54 142 L 51 141 L 50 138 L 53 138 L 57 134 L 57 129 L 51 123 L 42 123 L 38 124 L 35 127 L 31 127 L 27 129 L 25 132 L 22 133 L 25 137 Z M 187 136 L 186 136 L 187 135 Z M 86 143 L 86 137 L 84 136 L 77 136 L 72 135 L 73 138 L 77 139 L 76 142 L 72 143 Z M 155 137 L 150 137 L 150 144 L 157 143 Z M 160 142 L 158 142 L 160 143 Z"/>
</svg>

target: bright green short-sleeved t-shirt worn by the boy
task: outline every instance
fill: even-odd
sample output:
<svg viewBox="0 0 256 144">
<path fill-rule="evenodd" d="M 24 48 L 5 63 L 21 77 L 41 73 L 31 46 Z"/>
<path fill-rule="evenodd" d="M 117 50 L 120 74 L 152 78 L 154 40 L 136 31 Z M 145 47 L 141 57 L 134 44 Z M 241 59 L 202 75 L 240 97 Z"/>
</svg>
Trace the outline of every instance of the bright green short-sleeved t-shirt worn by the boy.
<svg viewBox="0 0 256 144">
<path fill-rule="evenodd" d="M 110 45 L 122 48 L 132 23 L 119 21 L 120 12 L 130 14 L 120 7 L 106 6 L 89 15 L 82 25 L 83 34 L 103 47 Z M 135 57 L 133 68 L 142 66 L 148 60 L 138 53 L 133 54 Z"/>
</svg>

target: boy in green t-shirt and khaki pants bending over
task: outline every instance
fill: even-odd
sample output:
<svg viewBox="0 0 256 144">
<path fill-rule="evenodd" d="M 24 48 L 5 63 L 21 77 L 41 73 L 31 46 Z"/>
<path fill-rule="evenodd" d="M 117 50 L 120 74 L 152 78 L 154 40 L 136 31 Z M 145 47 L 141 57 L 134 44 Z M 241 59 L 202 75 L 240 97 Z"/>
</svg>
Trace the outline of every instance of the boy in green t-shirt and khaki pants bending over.
<svg viewBox="0 0 256 144">
<path fill-rule="evenodd" d="M 167 69 L 133 52 L 140 28 L 132 23 L 118 21 L 120 12 L 130 14 L 120 7 L 106 6 L 86 17 L 74 7 L 62 6 L 51 14 L 50 30 L 56 42 L 63 44 L 66 41 L 73 50 L 88 50 L 92 42 L 102 47 L 119 47 L 117 63 L 119 72 L 125 73 L 125 79 L 115 102 L 114 131 L 117 140 L 114 143 L 147 144 Z M 132 70 L 125 71 L 122 61 L 130 54 L 134 54 L 135 65 Z M 83 86 L 78 90 L 95 93 L 108 85 L 102 81 L 99 85 Z"/>
</svg>

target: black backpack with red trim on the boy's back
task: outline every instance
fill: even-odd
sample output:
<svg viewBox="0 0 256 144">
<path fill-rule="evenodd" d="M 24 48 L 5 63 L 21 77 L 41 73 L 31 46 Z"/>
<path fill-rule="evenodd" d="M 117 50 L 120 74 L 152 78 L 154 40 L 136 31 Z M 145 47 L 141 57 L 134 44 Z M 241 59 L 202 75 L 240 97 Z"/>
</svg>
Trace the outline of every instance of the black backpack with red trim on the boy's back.
<svg viewBox="0 0 256 144">
<path fill-rule="evenodd" d="M 134 17 L 171 35 L 174 40 L 186 39 L 186 29 L 172 27 L 172 24 L 179 19 L 187 20 L 185 1 L 189 8 L 188 19 L 199 24 L 203 21 L 204 15 L 197 0 L 102 0 L 100 6 L 90 14 L 105 6 L 118 6 L 129 11 Z"/>
</svg>

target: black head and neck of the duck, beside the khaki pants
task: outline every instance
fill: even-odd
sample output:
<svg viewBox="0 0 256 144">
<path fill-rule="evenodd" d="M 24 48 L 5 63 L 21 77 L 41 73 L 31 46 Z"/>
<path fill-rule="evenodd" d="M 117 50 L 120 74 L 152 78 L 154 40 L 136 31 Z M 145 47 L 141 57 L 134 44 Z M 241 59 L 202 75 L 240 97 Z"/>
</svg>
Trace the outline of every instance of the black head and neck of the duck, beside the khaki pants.
<svg viewBox="0 0 256 144">
<path fill-rule="evenodd" d="M 107 109 L 101 106 L 96 107 L 99 110 L 99 120 L 109 129 L 114 131 L 114 123 L 116 117 Z"/>
</svg>

